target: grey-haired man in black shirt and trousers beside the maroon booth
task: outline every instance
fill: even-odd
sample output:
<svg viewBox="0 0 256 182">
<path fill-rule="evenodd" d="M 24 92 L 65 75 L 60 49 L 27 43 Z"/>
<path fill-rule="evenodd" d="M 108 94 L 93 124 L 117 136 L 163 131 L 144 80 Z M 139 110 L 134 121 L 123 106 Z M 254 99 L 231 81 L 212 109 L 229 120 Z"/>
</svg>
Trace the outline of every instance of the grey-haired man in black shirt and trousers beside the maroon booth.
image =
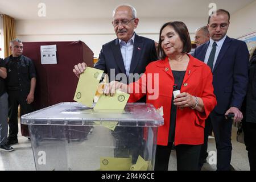
<svg viewBox="0 0 256 182">
<path fill-rule="evenodd" d="M 18 143 L 18 106 L 20 115 L 32 111 L 31 103 L 34 101 L 36 73 L 31 59 L 22 55 L 23 44 L 19 39 L 11 40 L 12 55 L 6 57 L 7 93 L 9 94 L 9 137 L 7 144 Z M 21 125 L 22 135 L 29 137 L 27 125 Z"/>
</svg>

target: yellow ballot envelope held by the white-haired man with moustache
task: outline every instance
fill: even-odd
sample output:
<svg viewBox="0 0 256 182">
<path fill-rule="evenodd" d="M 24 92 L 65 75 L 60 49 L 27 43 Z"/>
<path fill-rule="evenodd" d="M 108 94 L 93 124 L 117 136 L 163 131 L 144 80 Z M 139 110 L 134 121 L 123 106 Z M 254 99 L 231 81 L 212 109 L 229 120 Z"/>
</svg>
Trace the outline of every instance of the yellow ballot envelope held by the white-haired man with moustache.
<svg viewBox="0 0 256 182">
<path fill-rule="evenodd" d="M 93 98 L 103 72 L 100 69 L 87 67 L 84 73 L 80 75 L 74 100 L 88 107 L 92 107 Z"/>
</svg>

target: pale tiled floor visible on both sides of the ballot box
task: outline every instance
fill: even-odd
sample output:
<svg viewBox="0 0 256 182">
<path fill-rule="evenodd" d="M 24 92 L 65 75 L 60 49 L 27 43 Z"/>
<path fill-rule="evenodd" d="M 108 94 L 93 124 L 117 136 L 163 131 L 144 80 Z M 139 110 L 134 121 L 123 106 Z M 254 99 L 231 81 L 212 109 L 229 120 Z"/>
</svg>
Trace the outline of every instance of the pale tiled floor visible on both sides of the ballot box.
<svg viewBox="0 0 256 182">
<path fill-rule="evenodd" d="M 233 127 L 233 151 L 232 166 L 236 170 L 249 170 L 249 162 L 247 159 L 247 151 L 245 145 L 236 142 L 237 128 Z M 14 145 L 15 151 L 0 151 L 0 170 L 35 170 L 34 157 L 32 153 L 30 141 L 22 136 L 18 136 L 19 144 Z M 214 139 L 209 139 L 208 151 L 216 151 Z M 208 157 L 209 159 L 209 157 Z M 176 154 L 172 151 L 169 163 L 169 170 L 176 170 Z M 209 163 L 204 164 L 202 170 L 215 171 L 216 165 Z"/>
</svg>

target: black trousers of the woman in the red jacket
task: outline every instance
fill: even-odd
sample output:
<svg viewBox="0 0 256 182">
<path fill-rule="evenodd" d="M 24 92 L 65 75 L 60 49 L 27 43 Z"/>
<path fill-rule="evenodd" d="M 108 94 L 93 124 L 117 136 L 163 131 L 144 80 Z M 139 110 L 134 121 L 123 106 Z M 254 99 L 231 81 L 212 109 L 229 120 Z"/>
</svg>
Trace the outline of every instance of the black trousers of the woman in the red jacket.
<svg viewBox="0 0 256 182">
<path fill-rule="evenodd" d="M 177 156 L 177 171 L 197 171 L 201 145 L 179 144 L 175 146 Z M 155 171 L 167 171 L 172 150 L 168 146 L 156 146 Z"/>
</svg>

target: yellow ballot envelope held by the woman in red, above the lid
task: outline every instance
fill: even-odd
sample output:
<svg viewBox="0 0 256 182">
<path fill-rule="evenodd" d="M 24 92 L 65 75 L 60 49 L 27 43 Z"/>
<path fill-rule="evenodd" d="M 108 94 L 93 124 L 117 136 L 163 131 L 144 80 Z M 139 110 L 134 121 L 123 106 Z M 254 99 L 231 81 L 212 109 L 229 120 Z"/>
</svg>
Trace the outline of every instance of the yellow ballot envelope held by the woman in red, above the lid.
<svg viewBox="0 0 256 182">
<path fill-rule="evenodd" d="M 114 96 L 102 94 L 94 106 L 94 110 L 123 110 L 130 97 L 130 94 L 115 90 Z"/>
</svg>

